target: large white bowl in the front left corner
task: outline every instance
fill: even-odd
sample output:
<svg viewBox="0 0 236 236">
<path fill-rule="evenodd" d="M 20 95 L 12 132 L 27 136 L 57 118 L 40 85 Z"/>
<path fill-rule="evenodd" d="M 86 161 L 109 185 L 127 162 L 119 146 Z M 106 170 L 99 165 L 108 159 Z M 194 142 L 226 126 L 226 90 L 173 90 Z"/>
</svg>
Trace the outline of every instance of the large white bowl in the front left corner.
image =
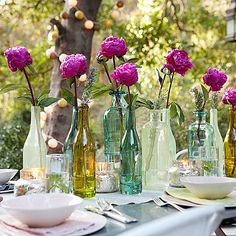
<svg viewBox="0 0 236 236">
<path fill-rule="evenodd" d="M 9 214 L 31 227 L 51 227 L 62 223 L 82 198 L 64 193 L 35 193 L 1 203 Z"/>
</svg>

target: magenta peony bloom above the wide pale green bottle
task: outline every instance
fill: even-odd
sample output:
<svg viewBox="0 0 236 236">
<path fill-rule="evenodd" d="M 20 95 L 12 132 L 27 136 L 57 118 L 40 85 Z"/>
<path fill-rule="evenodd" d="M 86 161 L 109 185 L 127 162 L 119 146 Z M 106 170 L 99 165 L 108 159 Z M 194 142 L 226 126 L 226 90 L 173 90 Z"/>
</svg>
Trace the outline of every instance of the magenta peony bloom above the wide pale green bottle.
<svg viewBox="0 0 236 236">
<path fill-rule="evenodd" d="M 165 67 L 184 76 L 188 69 L 193 68 L 193 64 L 189 61 L 185 50 L 174 49 L 168 52 Z"/>
</svg>

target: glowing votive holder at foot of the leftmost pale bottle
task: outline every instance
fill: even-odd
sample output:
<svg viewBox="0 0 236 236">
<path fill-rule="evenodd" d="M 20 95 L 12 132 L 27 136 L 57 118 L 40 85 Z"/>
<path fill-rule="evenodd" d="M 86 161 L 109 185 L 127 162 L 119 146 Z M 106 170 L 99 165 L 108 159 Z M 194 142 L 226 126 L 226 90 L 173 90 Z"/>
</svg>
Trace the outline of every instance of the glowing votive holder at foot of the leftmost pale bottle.
<svg viewBox="0 0 236 236">
<path fill-rule="evenodd" d="M 20 179 L 14 186 L 14 195 L 46 192 L 46 169 L 27 168 L 20 170 Z"/>
</svg>

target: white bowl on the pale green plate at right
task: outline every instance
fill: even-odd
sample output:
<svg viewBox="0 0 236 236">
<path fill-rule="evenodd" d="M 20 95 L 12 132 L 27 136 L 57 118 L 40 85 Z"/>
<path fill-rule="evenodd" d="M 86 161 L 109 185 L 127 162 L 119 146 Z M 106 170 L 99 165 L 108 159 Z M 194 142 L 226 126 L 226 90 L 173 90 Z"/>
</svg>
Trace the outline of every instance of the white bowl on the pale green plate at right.
<svg viewBox="0 0 236 236">
<path fill-rule="evenodd" d="M 188 176 L 180 181 L 191 193 L 205 199 L 224 198 L 236 187 L 236 179 L 228 177 Z"/>
</svg>

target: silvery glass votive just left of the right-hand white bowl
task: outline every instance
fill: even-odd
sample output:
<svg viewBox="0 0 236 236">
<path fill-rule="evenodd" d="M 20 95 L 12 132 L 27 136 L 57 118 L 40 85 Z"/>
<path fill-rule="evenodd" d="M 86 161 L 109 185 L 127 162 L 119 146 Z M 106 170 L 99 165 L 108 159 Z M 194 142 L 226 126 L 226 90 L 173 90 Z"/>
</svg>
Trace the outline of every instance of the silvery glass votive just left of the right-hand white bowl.
<svg viewBox="0 0 236 236">
<path fill-rule="evenodd" d="M 180 181 L 184 176 L 198 176 L 199 169 L 195 161 L 190 160 L 176 160 L 168 171 L 169 186 L 183 188 Z"/>
</svg>

